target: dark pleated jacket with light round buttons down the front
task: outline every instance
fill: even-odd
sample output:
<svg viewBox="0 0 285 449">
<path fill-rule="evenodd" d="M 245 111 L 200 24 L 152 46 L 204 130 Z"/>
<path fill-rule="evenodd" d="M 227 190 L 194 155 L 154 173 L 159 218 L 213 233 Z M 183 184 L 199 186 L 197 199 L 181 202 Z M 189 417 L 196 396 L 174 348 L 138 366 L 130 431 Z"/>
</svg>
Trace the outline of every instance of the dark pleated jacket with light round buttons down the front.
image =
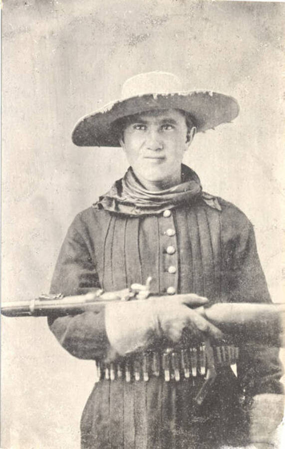
<svg viewBox="0 0 285 449">
<path fill-rule="evenodd" d="M 220 207 L 211 207 L 198 199 L 172 209 L 168 217 L 129 217 L 94 207 L 83 211 L 68 229 L 51 292 L 114 291 L 152 276 L 152 290 L 160 294 L 171 286 L 177 293 L 206 296 L 211 303 L 270 302 L 253 226 L 235 206 L 218 202 Z M 170 245 L 173 254 L 166 251 Z M 176 272 L 169 273 L 169 266 Z M 51 319 L 49 325 L 76 357 L 104 359 L 110 352 L 103 308 L 96 314 Z M 199 382 L 100 381 L 83 412 L 82 448 L 241 446 L 249 425 L 241 395 L 282 393 L 281 375 L 276 348 L 241 347 L 239 383 L 226 367 L 198 410 L 193 397 Z"/>
</svg>

